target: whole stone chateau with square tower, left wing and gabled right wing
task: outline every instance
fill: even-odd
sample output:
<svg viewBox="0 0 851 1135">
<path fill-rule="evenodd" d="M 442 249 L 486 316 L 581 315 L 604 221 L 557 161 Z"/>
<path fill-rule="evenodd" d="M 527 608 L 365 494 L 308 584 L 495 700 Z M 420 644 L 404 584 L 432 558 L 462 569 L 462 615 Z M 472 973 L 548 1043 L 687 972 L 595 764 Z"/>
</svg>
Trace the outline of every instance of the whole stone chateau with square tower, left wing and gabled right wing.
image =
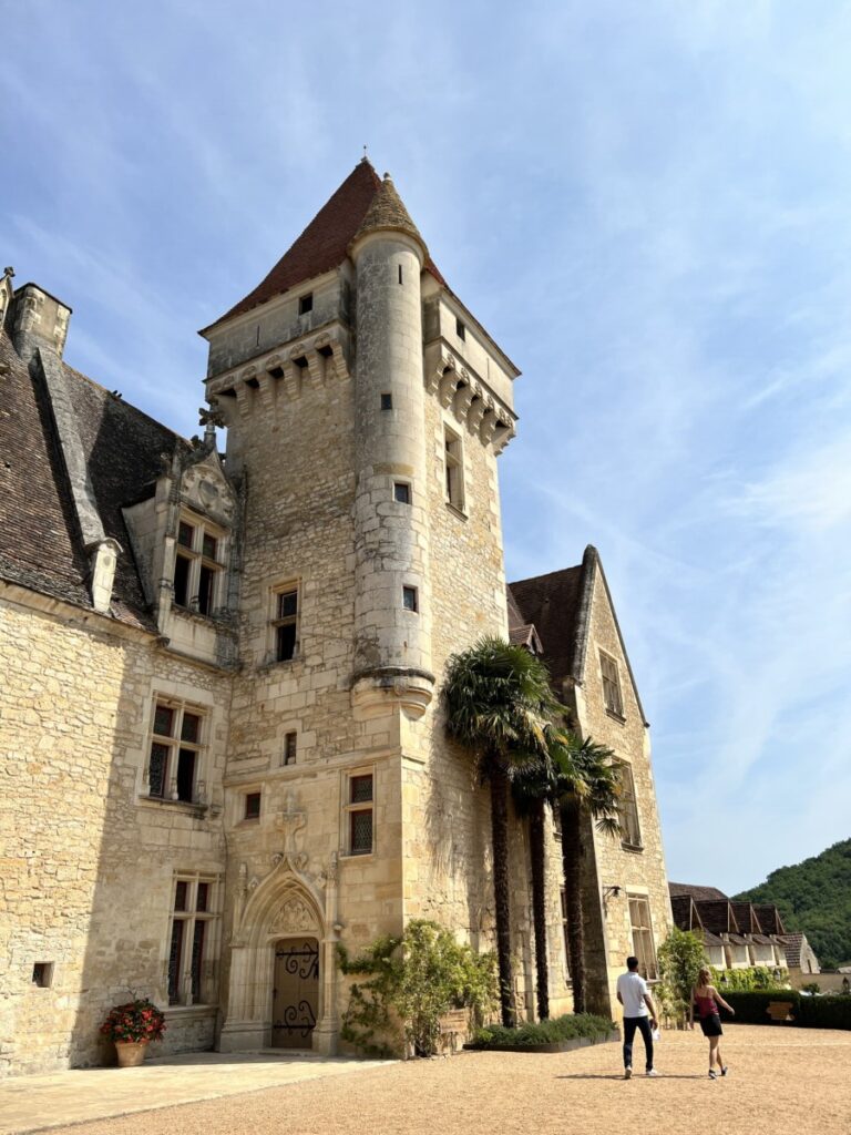
<svg viewBox="0 0 851 1135">
<path fill-rule="evenodd" d="M 588 826 L 589 992 L 655 976 L 671 905 L 648 728 L 603 566 L 506 589 L 497 457 L 519 371 L 364 159 L 201 334 L 186 442 L 64 360 L 70 309 L 0 283 L 0 1071 L 100 1063 L 128 991 L 161 1051 L 339 1050 L 357 950 L 433 918 L 492 947 L 490 821 L 446 734 L 447 658 L 542 653 L 614 749 Z M 218 430 L 226 432 L 219 452 Z M 534 1008 L 524 822 L 516 1002 Z M 559 844 L 550 998 L 571 1009 Z"/>
</svg>

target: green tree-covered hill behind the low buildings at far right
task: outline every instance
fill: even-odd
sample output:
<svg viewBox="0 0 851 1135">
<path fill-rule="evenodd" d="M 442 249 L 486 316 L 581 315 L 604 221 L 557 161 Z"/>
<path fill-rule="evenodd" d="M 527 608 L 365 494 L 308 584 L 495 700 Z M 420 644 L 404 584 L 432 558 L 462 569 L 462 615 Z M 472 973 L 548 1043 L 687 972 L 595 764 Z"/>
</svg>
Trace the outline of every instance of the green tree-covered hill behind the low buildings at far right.
<svg viewBox="0 0 851 1135">
<path fill-rule="evenodd" d="M 735 899 L 773 902 L 789 931 L 802 931 L 824 969 L 851 958 L 851 839 L 793 867 L 773 871 L 765 883 Z"/>
</svg>

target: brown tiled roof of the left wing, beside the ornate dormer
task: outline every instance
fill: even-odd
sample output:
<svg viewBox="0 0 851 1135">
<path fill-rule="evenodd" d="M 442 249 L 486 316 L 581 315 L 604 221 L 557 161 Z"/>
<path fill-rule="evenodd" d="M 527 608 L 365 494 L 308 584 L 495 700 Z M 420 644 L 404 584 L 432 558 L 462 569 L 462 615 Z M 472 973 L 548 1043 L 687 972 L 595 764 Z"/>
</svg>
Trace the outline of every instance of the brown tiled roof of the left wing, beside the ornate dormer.
<svg viewBox="0 0 851 1135">
<path fill-rule="evenodd" d="M 0 575 L 34 591 L 91 607 L 90 564 L 73 503 L 50 398 L 37 367 L 20 360 L 0 330 Z M 162 456 L 188 443 L 129 403 L 62 363 L 76 426 L 104 532 L 118 540 L 112 613 L 155 630 L 121 515 L 150 496 Z"/>
</svg>

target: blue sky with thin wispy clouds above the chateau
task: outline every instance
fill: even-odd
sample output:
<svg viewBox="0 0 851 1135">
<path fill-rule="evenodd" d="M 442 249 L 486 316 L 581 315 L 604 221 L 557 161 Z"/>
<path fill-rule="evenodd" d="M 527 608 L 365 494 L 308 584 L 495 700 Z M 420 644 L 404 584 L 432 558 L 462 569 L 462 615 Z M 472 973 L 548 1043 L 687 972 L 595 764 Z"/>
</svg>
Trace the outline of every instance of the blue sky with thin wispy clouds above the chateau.
<svg viewBox="0 0 851 1135">
<path fill-rule="evenodd" d="M 523 371 L 509 579 L 597 545 L 671 877 L 851 834 L 851 5 L 0 3 L 0 260 L 185 434 L 360 159 Z"/>
</svg>

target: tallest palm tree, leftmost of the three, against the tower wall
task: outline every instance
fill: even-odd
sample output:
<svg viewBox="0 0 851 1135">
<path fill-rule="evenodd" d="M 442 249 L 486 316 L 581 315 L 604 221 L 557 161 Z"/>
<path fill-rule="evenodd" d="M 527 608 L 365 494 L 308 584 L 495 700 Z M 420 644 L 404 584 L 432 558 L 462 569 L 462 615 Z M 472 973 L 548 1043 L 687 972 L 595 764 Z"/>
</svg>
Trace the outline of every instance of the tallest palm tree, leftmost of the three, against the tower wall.
<svg viewBox="0 0 851 1135">
<path fill-rule="evenodd" d="M 450 734 L 478 756 L 490 785 L 494 844 L 499 1004 L 512 1028 L 515 1010 L 511 953 L 508 886 L 508 787 L 514 766 L 529 755 L 545 754 L 561 706 L 544 663 L 523 647 L 488 636 L 449 659 L 444 684 Z"/>
</svg>

